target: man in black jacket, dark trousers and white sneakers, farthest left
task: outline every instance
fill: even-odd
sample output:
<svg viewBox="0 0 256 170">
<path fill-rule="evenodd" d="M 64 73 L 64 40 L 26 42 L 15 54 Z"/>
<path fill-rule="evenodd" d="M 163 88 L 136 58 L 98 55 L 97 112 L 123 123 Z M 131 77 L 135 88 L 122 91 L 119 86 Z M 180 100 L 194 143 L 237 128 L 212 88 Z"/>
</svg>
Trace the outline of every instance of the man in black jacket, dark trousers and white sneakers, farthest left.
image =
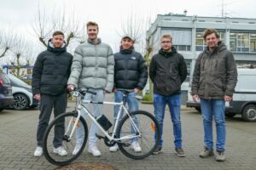
<svg viewBox="0 0 256 170">
<path fill-rule="evenodd" d="M 67 79 L 70 75 L 73 55 L 67 53 L 64 34 L 55 31 L 48 42 L 47 50 L 38 55 L 32 72 L 32 94 L 40 100 L 40 115 L 38 122 L 38 147 L 34 156 L 42 156 L 43 137 L 49 123 L 51 111 L 55 116 L 66 111 Z M 55 126 L 54 153 L 66 156 L 67 151 L 62 147 L 64 135 L 64 120 Z"/>
</svg>

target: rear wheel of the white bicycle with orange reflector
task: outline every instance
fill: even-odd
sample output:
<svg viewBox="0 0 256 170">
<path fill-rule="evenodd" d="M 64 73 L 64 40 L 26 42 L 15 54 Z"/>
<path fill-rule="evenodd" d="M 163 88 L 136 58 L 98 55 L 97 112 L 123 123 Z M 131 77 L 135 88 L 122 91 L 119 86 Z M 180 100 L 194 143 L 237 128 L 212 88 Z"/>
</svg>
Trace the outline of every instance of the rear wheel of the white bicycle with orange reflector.
<svg viewBox="0 0 256 170">
<path fill-rule="evenodd" d="M 124 138 L 131 135 L 139 135 L 139 137 L 132 139 L 122 139 L 119 145 L 119 150 L 123 152 L 125 156 L 131 159 L 143 159 L 150 156 L 154 150 L 156 150 L 160 141 L 160 127 L 157 120 L 153 115 L 147 111 L 133 111 L 131 112 L 131 118 L 126 115 L 119 122 L 117 128 L 117 138 Z M 137 132 L 136 127 L 132 126 L 132 121 L 138 125 Z M 139 134 L 140 133 L 140 134 Z M 141 150 L 135 151 L 131 147 L 132 142 L 137 142 L 140 145 Z"/>
</svg>

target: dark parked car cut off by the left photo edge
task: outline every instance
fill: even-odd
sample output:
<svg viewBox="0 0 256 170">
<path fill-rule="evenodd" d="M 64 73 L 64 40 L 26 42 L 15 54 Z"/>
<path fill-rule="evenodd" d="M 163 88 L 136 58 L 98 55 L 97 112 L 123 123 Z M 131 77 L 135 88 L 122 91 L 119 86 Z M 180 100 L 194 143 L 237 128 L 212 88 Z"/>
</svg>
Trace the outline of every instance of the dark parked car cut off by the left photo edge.
<svg viewBox="0 0 256 170">
<path fill-rule="evenodd" d="M 0 111 L 14 103 L 12 87 L 9 77 L 3 71 L 0 71 Z"/>
</svg>

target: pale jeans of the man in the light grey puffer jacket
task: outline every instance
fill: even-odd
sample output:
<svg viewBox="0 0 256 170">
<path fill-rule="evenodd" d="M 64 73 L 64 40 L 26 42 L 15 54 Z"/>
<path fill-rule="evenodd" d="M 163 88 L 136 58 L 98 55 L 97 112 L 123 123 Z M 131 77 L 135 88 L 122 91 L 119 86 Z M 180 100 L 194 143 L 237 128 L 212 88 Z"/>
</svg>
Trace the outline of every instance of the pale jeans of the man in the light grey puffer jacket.
<svg viewBox="0 0 256 170">
<path fill-rule="evenodd" d="M 102 102 L 104 100 L 104 92 L 102 89 L 95 89 L 95 88 L 90 88 L 92 91 L 96 92 L 96 95 L 94 94 L 85 94 L 84 99 L 85 100 L 93 100 L 97 102 Z M 86 105 L 88 109 L 90 105 Z M 92 104 L 93 106 L 93 111 L 92 114 L 93 116 L 99 117 L 102 116 L 102 107 L 103 105 L 98 105 L 98 104 Z M 87 117 L 82 115 L 84 119 Z M 84 126 L 82 123 L 80 123 L 81 126 L 77 128 L 76 131 L 76 144 L 82 144 L 84 141 Z M 96 126 L 95 122 L 92 122 L 90 125 L 90 133 L 89 133 L 89 147 L 92 147 L 96 145 L 96 133 L 98 132 L 99 127 Z"/>
</svg>

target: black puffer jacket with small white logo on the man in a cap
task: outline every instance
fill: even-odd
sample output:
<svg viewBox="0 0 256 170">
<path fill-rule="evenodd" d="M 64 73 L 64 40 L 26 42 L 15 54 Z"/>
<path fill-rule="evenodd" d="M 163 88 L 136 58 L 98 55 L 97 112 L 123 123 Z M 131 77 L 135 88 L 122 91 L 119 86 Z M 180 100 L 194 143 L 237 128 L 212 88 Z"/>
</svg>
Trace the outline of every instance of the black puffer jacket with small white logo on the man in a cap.
<svg viewBox="0 0 256 170">
<path fill-rule="evenodd" d="M 143 89 L 148 80 L 148 67 L 142 54 L 120 49 L 114 56 L 114 88 Z"/>
</svg>

